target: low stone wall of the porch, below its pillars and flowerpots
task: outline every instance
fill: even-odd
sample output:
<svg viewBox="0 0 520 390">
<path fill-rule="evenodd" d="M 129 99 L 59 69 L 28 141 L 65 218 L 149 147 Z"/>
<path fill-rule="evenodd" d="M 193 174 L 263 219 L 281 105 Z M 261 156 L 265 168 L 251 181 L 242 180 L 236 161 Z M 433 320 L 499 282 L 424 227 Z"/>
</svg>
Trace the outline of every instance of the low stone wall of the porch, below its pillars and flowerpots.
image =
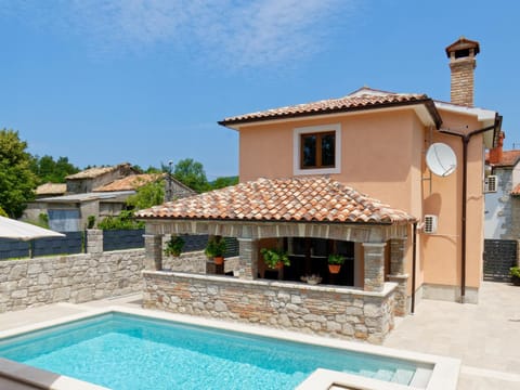
<svg viewBox="0 0 520 390">
<path fill-rule="evenodd" d="M 369 292 L 164 271 L 145 271 L 143 276 L 143 306 L 148 309 L 372 343 L 381 343 L 394 324 L 394 283 Z"/>
</svg>

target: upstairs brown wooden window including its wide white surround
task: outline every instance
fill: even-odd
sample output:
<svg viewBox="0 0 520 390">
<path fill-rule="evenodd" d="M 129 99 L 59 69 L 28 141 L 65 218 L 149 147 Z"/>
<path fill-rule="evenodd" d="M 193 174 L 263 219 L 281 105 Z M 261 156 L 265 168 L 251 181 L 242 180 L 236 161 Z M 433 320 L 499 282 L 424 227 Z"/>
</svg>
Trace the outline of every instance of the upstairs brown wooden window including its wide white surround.
<svg viewBox="0 0 520 390">
<path fill-rule="evenodd" d="M 340 126 L 295 129 L 295 174 L 340 172 Z"/>
</svg>

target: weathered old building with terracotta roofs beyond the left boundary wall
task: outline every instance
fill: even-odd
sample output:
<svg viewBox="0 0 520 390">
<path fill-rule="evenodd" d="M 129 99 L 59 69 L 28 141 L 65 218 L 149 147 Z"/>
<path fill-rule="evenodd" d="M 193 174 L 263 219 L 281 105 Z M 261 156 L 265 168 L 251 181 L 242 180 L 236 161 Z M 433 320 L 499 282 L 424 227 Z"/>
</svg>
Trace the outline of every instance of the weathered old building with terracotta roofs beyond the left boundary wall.
<svg viewBox="0 0 520 390">
<path fill-rule="evenodd" d="M 37 220 L 40 213 L 49 217 L 49 226 L 58 232 L 75 232 L 87 226 L 90 216 L 96 221 L 108 216 L 118 216 L 127 209 L 127 199 L 134 195 L 136 190 L 147 183 L 166 179 L 167 174 L 139 173 L 130 164 L 119 164 L 113 167 L 90 168 L 68 176 L 66 184 L 44 184 L 38 187 L 39 193 L 48 196 L 38 196 L 30 203 L 23 219 Z M 51 194 L 51 190 L 66 191 L 58 196 Z M 196 194 L 174 178 L 165 180 L 168 194 L 173 197 L 185 197 Z M 49 196 L 52 195 L 52 196 Z"/>
</svg>

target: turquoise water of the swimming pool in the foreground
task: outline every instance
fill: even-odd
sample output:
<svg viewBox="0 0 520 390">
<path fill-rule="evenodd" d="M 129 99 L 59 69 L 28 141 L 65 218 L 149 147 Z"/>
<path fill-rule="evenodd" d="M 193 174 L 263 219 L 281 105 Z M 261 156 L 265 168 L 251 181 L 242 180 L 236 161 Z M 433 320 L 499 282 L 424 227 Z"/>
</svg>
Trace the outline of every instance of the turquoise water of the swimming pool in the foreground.
<svg viewBox="0 0 520 390">
<path fill-rule="evenodd" d="M 316 368 L 408 385 L 406 361 L 109 313 L 0 341 L 0 356 L 112 389 L 294 389 Z"/>
</svg>

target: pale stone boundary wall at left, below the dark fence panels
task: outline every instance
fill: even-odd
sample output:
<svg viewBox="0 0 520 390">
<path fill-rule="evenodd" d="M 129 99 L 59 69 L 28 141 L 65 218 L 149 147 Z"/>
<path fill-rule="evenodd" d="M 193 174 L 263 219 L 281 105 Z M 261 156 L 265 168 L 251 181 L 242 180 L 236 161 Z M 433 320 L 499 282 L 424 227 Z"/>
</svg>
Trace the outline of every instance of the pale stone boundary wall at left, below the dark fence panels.
<svg viewBox="0 0 520 390">
<path fill-rule="evenodd" d="M 0 261 L 0 313 L 142 289 L 144 250 Z"/>
</svg>

